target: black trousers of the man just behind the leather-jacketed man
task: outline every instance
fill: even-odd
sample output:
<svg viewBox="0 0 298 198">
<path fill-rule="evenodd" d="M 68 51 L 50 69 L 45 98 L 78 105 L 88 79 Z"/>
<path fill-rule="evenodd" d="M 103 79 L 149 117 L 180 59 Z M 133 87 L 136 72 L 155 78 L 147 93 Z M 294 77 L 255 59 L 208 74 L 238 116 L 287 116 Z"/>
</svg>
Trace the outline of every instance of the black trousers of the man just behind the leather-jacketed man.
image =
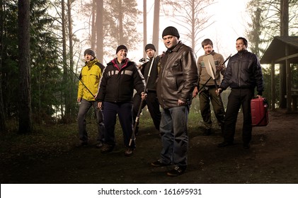
<svg viewBox="0 0 298 198">
<path fill-rule="evenodd" d="M 132 108 L 134 122 L 137 117 L 137 112 L 139 111 L 139 105 L 141 104 L 141 100 L 142 98 L 139 94 L 137 93 L 134 94 L 133 108 Z M 148 91 L 147 98 L 142 103 L 142 109 L 146 105 L 150 112 L 155 128 L 159 130 L 159 124 L 161 123 L 161 111 L 159 110 L 159 100 L 157 99 L 156 91 Z"/>
</svg>

